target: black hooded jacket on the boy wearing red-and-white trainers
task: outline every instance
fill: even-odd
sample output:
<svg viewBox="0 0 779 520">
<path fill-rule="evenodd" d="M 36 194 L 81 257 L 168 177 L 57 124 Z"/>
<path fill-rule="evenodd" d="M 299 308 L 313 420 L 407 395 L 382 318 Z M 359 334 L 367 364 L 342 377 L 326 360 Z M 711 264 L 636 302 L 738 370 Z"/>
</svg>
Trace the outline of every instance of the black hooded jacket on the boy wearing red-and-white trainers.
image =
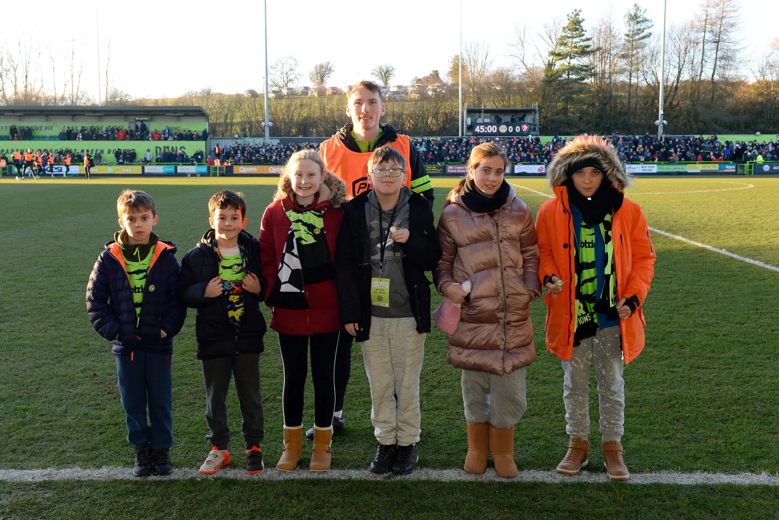
<svg viewBox="0 0 779 520">
<path fill-rule="evenodd" d="M 245 231 L 238 235 L 238 246 L 246 254 L 248 271 L 256 274 L 260 283 L 259 295 L 248 291 L 243 293 L 244 314 L 238 333 L 227 317 L 224 294 L 216 298 L 204 296 L 208 282 L 219 275 L 220 257 L 215 245 L 214 231 L 209 229 L 182 259 L 182 273 L 178 278 L 178 297 L 185 306 L 197 309 L 197 359 L 263 352 L 266 325 L 259 311 L 259 302 L 265 295 L 265 280 L 259 260 L 259 242 Z"/>
</svg>

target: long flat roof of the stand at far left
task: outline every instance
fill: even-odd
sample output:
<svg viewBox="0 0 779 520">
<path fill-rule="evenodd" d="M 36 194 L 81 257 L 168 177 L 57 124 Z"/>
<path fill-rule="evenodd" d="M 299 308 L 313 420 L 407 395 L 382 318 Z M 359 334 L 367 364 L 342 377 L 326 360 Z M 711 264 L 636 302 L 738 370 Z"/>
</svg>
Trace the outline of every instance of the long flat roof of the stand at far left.
<svg viewBox="0 0 779 520">
<path fill-rule="evenodd" d="M 178 106 L 143 106 L 143 105 L 122 105 L 100 107 L 89 106 L 23 106 L 23 105 L 3 105 L 0 106 L 0 117 L 19 117 L 36 118 L 37 121 L 46 120 L 48 117 L 89 117 L 89 118 L 205 118 L 208 119 L 208 112 L 202 107 L 178 107 Z M 61 119 L 60 119 L 61 120 Z"/>
</svg>

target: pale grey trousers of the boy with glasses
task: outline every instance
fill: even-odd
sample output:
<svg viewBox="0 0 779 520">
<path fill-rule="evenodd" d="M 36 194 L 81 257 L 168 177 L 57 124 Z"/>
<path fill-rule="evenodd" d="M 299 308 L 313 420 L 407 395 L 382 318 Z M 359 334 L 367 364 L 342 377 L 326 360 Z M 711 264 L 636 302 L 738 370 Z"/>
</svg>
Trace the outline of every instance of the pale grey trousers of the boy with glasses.
<svg viewBox="0 0 779 520">
<path fill-rule="evenodd" d="M 419 374 L 426 336 L 417 332 L 413 317 L 371 318 L 371 338 L 361 346 L 371 385 L 373 433 L 381 444 L 419 442 Z"/>
</svg>

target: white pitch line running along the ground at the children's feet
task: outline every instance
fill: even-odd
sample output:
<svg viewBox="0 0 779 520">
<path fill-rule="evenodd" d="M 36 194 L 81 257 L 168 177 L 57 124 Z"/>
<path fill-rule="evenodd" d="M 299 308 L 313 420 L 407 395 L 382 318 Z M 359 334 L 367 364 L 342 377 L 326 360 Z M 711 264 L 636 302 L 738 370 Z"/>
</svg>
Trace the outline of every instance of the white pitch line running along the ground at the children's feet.
<svg viewBox="0 0 779 520">
<path fill-rule="evenodd" d="M 560 475 L 554 471 L 526 469 L 520 471 L 515 479 L 502 479 L 494 469 L 488 469 L 484 475 L 471 475 L 462 469 L 418 469 L 408 476 L 380 476 L 365 469 L 331 469 L 329 472 L 308 472 L 296 469 L 294 472 L 280 472 L 266 469 L 256 475 L 247 475 L 237 468 L 225 468 L 216 475 L 201 475 L 194 468 L 174 469 L 171 475 L 152 476 L 145 480 L 183 480 L 183 479 L 234 479 L 234 480 L 417 480 L 434 482 L 540 482 L 562 483 L 606 483 L 608 476 L 604 472 L 581 472 L 576 476 Z M 104 467 L 95 469 L 0 469 L 0 481 L 3 482 L 48 482 L 59 480 L 144 480 L 132 476 L 132 468 Z M 632 484 L 676 484 L 682 486 L 700 486 L 732 484 L 736 486 L 779 486 L 779 474 L 776 473 L 710 473 L 710 472 L 651 472 L 633 473 Z"/>
</svg>

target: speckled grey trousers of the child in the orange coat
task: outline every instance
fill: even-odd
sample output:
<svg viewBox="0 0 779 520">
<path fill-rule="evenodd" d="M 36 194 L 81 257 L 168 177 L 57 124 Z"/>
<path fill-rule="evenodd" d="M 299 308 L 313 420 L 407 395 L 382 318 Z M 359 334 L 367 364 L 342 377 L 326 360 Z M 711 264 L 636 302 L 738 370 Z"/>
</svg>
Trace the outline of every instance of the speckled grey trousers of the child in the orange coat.
<svg viewBox="0 0 779 520">
<path fill-rule="evenodd" d="M 590 434 L 590 361 L 597 380 L 603 441 L 619 441 L 625 433 L 625 363 L 619 327 L 598 330 L 593 338 L 573 347 L 570 361 L 562 361 L 566 432 L 572 439 L 587 439 Z"/>
</svg>

